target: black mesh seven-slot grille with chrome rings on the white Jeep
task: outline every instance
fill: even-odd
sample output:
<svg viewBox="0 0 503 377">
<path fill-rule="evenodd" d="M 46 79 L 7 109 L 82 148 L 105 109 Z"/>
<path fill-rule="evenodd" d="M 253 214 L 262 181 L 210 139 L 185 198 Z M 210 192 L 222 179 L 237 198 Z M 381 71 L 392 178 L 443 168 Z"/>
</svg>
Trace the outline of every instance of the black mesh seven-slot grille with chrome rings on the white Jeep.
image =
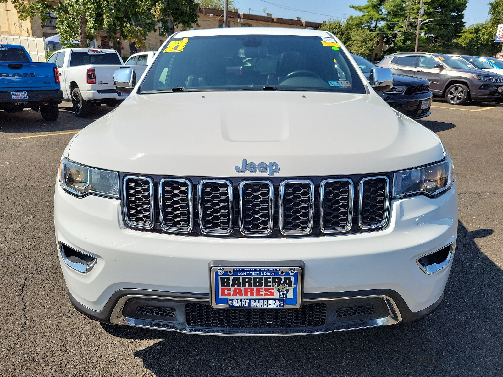
<svg viewBox="0 0 503 377">
<path fill-rule="evenodd" d="M 285 237 L 359 233 L 387 223 L 387 176 L 314 177 L 315 184 L 312 179 L 272 180 L 158 177 L 156 183 L 126 175 L 122 196 L 126 224 L 193 236 Z"/>
</svg>

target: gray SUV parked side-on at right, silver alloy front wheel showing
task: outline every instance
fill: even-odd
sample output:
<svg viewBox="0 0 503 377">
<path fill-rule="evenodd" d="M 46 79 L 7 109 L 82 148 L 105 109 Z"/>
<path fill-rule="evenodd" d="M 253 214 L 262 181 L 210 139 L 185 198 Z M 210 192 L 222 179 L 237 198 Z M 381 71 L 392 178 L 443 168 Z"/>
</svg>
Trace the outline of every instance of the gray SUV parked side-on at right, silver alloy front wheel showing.
<svg viewBox="0 0 503 377">
<path fill-rule="evenodd" d="M 503 90 L 500 74 L 466 68 L 444 54 L 397 53 L 386 55 L 377 65 L 391 68 L 393 73 L 426 78 L 433 95 L 445 97 L 452 105 L 501 98 Z"/>
</svg>

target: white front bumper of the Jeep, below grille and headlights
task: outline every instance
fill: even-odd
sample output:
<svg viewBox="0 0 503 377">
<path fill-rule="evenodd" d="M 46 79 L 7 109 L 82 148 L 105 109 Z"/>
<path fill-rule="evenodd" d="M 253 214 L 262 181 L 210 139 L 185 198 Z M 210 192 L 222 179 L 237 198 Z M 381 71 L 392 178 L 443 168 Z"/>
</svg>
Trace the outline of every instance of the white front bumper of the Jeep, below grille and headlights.
<svg viewBox="0 0 503 377">
<path fill-rule="evenodd" d="M 57 242 L 97 259 L 92 269 L 81 273 L 65 264 L 59 253 L 72 303 L 91 318 L 135 326 L 144 326 L 144 321 L 117 316 L 121 310 L 117 303 L 130 294 L 128 290 L 134 290 L 135 295 L 140 292 L 140 296 L 148 291 L 147 296 L 164 297 L 164 301 L 189 296 L 206 302 L 208 263 L 214 259 L 302 260 L 305 302 L 386 296 L 394 302 L 390 308 L 395 315 L 390 309 L 385 317 L 369 319 L 373 325 L 420 319 L 440 304 L 452 258 L 445 268 L 432 274 L 425 273 L 416 260 L 456 241 L 457 216 L 456 182 L 437 198 L 416 196 L 392 201 L 389 225 L 383 230 L 295 239 L 135 231 L 124 226 L 120 201 L 96 196 L 75 198 L 62 191 L 58 182 L 54 200 Z M 362 323 L 357 327 L 370 326 Z M 354 323 L 343 325 L 317 332 L 355 328 Z M 170 326 L 175 328 L 165 328 L 186 331 L 183 321 Z"/>
</svg>

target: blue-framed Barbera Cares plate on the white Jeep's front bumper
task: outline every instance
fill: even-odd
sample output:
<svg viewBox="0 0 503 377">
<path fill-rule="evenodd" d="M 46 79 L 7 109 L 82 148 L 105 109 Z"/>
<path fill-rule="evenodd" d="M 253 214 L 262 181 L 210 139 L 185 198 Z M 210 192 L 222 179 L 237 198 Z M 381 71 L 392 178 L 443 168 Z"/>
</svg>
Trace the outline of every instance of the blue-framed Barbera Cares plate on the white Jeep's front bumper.
<svg viewBox="0 0 503 377">
<path fill-rule="evenodd" d="M 301 267 L 211 267 L 213 308 L 300 308 Z"/>
</svg>

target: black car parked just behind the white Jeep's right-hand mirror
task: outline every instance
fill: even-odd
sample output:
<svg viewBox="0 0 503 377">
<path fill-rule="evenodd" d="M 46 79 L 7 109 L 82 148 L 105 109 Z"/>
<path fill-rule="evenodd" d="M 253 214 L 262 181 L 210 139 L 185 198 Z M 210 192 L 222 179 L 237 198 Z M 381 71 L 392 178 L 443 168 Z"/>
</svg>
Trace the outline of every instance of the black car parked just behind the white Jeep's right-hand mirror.
<svg viewBox="0 0 503 377">
<path fill-rule="evenodd" d="M 370 70 L 375 64 L 359 55 L 351 56 L 365 77 L 370 78 Z M 424 78 L 393 74 L 393 87 L 378 94 L 389 106 L 409 118 L 421 119 L 431 114 L 433 95 L 430 82 Z"/>
</svg>

